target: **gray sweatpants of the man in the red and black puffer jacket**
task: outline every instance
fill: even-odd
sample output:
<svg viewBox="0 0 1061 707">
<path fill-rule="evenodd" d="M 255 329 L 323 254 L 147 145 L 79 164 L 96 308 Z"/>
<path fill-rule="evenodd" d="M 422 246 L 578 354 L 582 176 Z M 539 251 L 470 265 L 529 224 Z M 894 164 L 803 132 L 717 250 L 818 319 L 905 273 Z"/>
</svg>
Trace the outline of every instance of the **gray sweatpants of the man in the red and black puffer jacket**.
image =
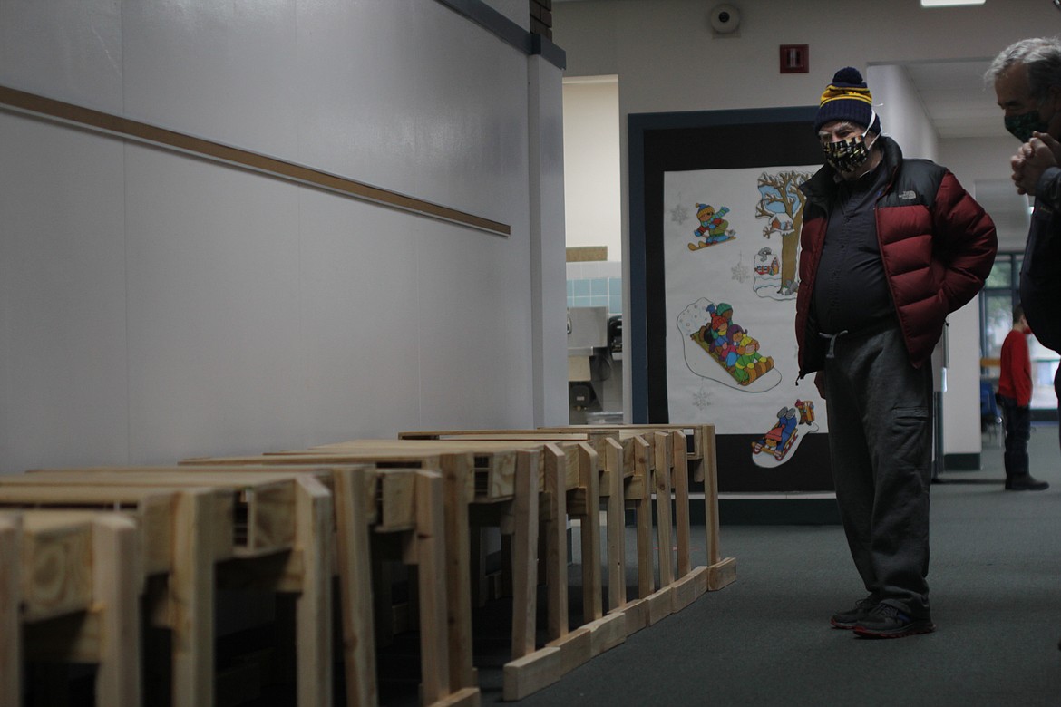
<svg viewBox="0 0 1061 707">
<path fill-rule="evenodd" d="M 932 371 L 909 363 L 898 324 L 845 334 L 825 361 L 836 500 L 866 589 L 928 612 Z"/>
</svg>

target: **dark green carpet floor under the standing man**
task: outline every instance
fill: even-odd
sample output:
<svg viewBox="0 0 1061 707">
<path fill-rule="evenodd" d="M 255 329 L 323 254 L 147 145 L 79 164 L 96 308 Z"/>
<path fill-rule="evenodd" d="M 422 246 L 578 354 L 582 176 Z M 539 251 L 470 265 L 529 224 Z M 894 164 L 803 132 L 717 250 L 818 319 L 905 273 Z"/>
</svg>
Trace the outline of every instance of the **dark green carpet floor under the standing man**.
<svg viewBox="0 0 1061 707">
<path fill-rule="evenodd" d="M 520 705 L 1061 705 L 1061 453 L 1036 426 L 1045 492 L 1003 490 L 1002 449 L 933 485 L 938 630 L 866 640 L 830 614 L 864 596 L 838 526 L 724 526 L 737 580 Z M 702 531 L 695 535 L 702 543 Z M 484 684 L 483 704 L 501 702 Z"/>
</svg>

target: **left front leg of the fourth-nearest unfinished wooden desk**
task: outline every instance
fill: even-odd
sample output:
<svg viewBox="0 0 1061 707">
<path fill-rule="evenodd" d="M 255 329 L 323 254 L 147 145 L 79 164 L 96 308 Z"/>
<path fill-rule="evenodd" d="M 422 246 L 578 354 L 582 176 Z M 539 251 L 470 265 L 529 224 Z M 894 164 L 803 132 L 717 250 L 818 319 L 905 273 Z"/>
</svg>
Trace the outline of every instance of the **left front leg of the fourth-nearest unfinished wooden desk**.
<svg viewBox="0 0 1061 707">
<path fill-rule="evenodd" d="M 472 666 L 471 532 L 468 523 L 470 455 L 443 455 L 442 496 L 446 525 L 446 597 L 449 621 L 450 686 L 454 691 L 479 685 Z M 476 536 L 479 531 L 476 530 Z M 479 547 L 476 545 L 476 547 Z"/>
</svg>

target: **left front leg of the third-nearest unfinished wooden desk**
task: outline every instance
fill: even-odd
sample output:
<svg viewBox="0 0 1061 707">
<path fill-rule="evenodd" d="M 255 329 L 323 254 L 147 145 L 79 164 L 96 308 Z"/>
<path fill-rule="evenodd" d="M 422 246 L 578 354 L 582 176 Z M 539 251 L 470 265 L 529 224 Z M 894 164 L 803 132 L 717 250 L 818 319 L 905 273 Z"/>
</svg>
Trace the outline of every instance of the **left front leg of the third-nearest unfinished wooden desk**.
<svg viewBox="0 0 1061 707">
<path fill-rule="evenodd" d="M 346 701 L 356 707 L 379 704 L 376 687 L 376 632 L 372 625 L 371 550 L 364 474 L 337 471 L 335 530 L 340 598 L 343 603 L 343 664 Z"/>
</svg>

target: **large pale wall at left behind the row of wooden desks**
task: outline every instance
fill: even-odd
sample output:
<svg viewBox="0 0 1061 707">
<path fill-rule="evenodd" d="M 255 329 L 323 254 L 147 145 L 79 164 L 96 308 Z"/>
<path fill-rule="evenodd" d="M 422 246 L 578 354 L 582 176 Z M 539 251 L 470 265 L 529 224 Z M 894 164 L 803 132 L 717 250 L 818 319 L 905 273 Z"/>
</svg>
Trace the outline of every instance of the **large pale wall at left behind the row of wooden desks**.
<svg viewBox="0 0 1061 707">
<path fill-rule="evenodd" d="M 433 0 L 0 1 L 0 84 L 511 227 L 0 112 L 0 471 L 564 422 L 534 61 Z"/>
</svg>

